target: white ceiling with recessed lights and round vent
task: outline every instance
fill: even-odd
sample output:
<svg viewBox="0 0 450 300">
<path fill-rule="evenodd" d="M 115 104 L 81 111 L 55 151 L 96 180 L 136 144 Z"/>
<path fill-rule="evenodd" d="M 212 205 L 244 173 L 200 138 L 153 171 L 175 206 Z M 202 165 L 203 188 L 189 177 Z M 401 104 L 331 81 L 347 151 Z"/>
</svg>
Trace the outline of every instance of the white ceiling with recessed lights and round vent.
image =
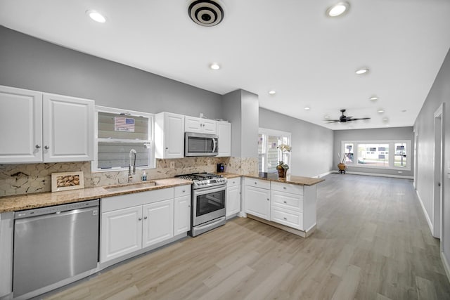
<svg viewBox="0 0 450 300">
<path fill-rule="evenodd" d="M 245 89 L 261 107 L 329 129 L 412 126 L 449 51 L 450 1 L 349 0 L 347 15 L 327 18 L 336 2 L 221 0 L 224 20 L 202 27 L 191 0 L 0 0 L 0 24 L 215 93 Z M 342 108 L 372 119 L 323 121 Z"/>
</svg>

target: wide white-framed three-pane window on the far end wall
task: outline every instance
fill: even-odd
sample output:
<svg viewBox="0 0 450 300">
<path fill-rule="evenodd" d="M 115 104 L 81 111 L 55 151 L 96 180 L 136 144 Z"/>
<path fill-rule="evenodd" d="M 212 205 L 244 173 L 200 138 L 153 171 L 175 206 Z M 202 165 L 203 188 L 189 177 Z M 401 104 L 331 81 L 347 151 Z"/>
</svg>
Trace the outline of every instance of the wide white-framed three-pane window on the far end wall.
<svg viewBox="0 0 450 300">
<path fill-rule="evenodd" d="M 345 164 L 352 167 L 411 170 L 410 149 L 411 141 L 342 141 Z"/>
</svg>

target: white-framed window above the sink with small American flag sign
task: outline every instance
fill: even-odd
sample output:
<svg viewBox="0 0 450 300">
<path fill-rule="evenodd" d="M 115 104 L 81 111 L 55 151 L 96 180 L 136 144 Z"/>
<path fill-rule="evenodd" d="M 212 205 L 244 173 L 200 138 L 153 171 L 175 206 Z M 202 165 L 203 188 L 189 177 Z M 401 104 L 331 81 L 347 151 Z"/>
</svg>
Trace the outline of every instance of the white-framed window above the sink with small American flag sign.
<svg viewBox="0 0 450 300">
<path fill-rule="evenodd" d="M 136 150 L 136 168 L 154 168 L 154 148 L 152 114 L 96 107 L 96 151 L 92 171 L 128 169 L 131 149 Z"/>
</svg>

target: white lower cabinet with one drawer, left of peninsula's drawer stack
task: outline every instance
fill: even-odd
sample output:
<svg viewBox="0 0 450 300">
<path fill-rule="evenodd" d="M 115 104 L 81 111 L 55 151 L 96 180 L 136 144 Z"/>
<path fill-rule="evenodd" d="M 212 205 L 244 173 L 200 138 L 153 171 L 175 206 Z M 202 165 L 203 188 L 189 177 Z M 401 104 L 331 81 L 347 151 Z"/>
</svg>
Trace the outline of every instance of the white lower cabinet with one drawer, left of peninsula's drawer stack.
<svg viewBox="0 0 450 300">
<path fill-rule="evenodd" d="M 245 178 L 245 212 L 270 220 L 270 182 Z"/>
</svg>

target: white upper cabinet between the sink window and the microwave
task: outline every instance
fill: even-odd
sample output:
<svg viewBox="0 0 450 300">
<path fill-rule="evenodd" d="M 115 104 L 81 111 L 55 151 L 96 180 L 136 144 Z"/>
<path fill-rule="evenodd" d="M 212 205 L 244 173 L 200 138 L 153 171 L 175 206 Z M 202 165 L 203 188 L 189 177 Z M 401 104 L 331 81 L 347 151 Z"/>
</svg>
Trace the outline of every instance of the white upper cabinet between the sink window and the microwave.
<svg viewBox="0 0 450 300">
<path fill-rule="evenodd" d="M 184 115 L 160 112 L 155 122 L 155 157 L 184 157 Z"/>
</svg>

